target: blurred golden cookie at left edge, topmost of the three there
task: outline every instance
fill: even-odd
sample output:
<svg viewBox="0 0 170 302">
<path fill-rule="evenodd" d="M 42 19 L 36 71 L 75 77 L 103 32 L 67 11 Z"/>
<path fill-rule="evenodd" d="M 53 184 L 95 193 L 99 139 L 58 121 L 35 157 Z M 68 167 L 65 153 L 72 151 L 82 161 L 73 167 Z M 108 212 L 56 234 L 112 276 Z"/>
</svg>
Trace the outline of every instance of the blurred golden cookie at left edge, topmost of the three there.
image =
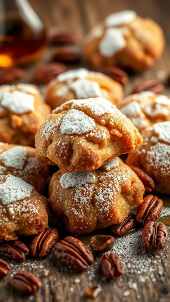
<svg viewBox="0 0 170 302">
<path fill-rule="evenodd" d="M 34 146 L 35 134 L 50 113 L 35 85 L 0 86 L 0 141 Z"/>
</svg>

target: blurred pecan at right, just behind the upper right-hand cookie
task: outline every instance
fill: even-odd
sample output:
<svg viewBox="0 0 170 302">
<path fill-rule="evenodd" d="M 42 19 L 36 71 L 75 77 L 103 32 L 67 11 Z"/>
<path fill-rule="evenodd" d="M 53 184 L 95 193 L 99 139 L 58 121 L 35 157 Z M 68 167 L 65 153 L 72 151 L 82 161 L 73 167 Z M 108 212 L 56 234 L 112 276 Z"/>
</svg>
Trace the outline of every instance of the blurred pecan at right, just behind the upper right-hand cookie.
<svg viewBox="0 0 170 302">
<path fill-rule="evenodd" d="M 164 90 L 164 85 L 161 84 L 161 82 L 157 80 L 148 80 L 145 82 L 142 82 L 141 84 L 137 85 L 131 94 L 139 93 L 141 91 L 152 91 L 154 93 L 161 93 Z"/>
</svg>

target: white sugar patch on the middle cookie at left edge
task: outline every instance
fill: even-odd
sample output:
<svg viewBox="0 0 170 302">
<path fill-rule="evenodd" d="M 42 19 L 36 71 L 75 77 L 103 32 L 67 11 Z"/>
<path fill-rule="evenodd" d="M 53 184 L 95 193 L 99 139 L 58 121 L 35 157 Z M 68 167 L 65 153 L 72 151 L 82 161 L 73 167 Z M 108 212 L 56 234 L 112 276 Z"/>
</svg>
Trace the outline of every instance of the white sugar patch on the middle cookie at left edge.
<svg viewBox="0 0 170 302">
<path fill-rule="evenodd" d="M 25 159 L 27 155 L 27 149 L 20 146 L 15 146 L 0 154 L 0 159 L 7 167 L 14 167 L 17 169 L 23 169 Z"/>
</svg>

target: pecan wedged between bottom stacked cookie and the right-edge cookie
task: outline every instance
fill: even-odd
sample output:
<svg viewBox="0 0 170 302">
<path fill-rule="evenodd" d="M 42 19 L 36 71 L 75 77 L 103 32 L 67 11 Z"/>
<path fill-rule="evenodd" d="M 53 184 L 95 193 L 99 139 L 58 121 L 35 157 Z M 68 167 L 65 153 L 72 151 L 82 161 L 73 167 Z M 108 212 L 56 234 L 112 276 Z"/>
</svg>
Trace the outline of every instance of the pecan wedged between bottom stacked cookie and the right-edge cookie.
<svg viewBox="0 0 170 302">
<path fill-rule="evenodd" d="M 141 182 L 143 182 L 143 185 L 145 187 L 146 192 L 152 192 L 153 188 L 155 187 L 153 179 L 147 175 L 145 172 L 143 172 L 140 168 L 136 166 L 131 166 L 130 168 L 136 173 L 136 175 L 139 177 Z"/>
</svg>

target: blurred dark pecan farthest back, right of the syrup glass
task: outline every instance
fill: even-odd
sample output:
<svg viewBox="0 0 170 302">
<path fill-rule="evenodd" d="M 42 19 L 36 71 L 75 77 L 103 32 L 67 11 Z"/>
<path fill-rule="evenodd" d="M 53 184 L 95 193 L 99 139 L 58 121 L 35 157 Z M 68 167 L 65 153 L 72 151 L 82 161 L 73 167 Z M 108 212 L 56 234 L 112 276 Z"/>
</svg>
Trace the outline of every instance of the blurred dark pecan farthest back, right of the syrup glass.
<svg viewBox="0 0 170 302">
<path fill-rule="evenodd" d="M 79 42 L 79 37 L 77 34 L 73 33 L 72 31 L 53 31 L 49 35 L 49 40 L 53 44 L 75 44 Z"/>
</svg>

